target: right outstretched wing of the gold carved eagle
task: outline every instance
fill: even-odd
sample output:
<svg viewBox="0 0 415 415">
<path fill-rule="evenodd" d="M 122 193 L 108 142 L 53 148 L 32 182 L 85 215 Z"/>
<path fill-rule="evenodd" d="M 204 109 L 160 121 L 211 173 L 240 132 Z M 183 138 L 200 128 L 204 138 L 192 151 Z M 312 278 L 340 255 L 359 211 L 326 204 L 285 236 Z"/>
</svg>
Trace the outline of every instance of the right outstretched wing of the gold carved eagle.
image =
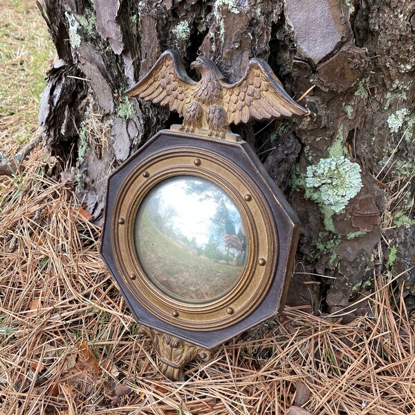
<svg viewBox="0 0 415 415">
<path fill-rule="evenodd" d="M 245 76 L 234 84 L 223 84 L 223 102 L 228 122 L 307 116 L 282 87 L 271 67 L 262 59 L 250 59 Z"/>
</svg>

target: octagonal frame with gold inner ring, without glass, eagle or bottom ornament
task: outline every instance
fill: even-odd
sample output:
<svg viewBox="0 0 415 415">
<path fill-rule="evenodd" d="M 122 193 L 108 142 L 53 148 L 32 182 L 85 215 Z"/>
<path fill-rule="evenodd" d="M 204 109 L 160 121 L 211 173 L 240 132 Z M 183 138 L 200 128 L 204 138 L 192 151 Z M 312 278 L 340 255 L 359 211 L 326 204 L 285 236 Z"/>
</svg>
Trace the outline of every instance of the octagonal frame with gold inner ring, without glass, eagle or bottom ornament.
<svg viewBox="0 0 415 415">
<path fill-rule="evenodd" d="M 133 220 L 145 194 L 174 175 L 221 186 L 248 224 L 250 254 L 239 284 L 208 304 L 179 304 L 148 279 L 133 248 Z M 101 253 L 137 320 L 199 344 L 220 344 L 284 306 L 299 221 L 246 142 L 160 131 L 109 178 Z"/>
</svg>

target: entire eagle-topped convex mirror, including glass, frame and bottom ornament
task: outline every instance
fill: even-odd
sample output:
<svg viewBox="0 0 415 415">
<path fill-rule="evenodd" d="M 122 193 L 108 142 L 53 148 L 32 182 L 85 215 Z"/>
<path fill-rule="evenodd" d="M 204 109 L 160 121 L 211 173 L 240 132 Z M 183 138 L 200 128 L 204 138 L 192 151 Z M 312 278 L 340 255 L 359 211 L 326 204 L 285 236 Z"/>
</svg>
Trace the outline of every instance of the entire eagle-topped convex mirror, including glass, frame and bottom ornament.
<svg viewBox="0 0 415 415">
<path fill-rule="evenodd" d="M 299 220 L 230 124 L 309 113 L 261 59 L 234 84 L 205 57 L 191 67 L 199 82 L 167 50 L 127 91 L 183 124 L 159 131 L 109 177 L 101 243 L 172 380 L 284 307 Z"/>
</svg>

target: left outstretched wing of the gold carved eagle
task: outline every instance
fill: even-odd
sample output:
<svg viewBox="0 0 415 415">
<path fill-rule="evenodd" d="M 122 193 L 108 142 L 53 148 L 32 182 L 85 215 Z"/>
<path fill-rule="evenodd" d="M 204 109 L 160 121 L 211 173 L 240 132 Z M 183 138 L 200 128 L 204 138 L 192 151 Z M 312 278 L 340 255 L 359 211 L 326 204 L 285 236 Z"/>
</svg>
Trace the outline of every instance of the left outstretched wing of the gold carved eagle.
<svg viewBox="0 0 415 415">
<path fill-rule="evenodd" d="M 176 50 L 166 50 L 149 73 L 125 93 L 183 115 L 185 107 L 192 100 L 196 84 L 187 76 L 183 60 Z"/>
</svg>

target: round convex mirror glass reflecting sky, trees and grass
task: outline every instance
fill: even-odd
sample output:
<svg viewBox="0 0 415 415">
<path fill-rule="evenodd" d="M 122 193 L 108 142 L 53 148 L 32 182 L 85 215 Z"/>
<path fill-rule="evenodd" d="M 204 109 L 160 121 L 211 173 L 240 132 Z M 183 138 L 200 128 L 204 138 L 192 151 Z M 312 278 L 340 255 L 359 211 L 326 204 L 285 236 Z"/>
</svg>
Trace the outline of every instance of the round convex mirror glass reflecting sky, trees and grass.
<svg viewBox="0 0 415 415">
<path fill-rule="evenodd" d="M 241 212 L 219 186 L 176 176 L 140 203 L 134 243 L 154 285 L 173 299 L 199 304 L 237 284 L 246 266 L 246 234 Z"/>
</svg>

